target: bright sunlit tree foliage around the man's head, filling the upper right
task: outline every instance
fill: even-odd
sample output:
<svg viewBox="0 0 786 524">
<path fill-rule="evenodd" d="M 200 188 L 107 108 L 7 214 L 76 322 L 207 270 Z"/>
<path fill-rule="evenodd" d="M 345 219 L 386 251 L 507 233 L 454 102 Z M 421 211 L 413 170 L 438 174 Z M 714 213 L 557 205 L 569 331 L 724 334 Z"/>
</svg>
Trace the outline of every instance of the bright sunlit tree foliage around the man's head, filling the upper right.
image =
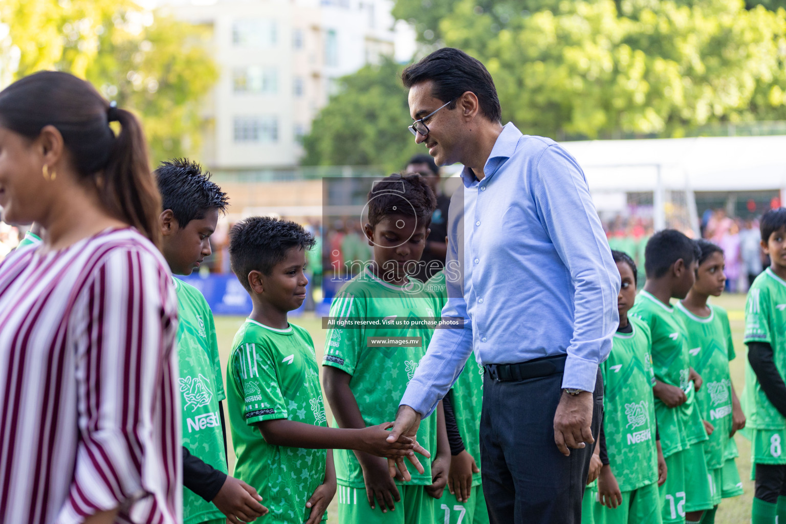
<svg viewBox="0 0 786 524">
<path fill-rule="evenodd" d="M 503 122 L 527 134 L 680 137 L 707 124 L 786 119 L 784 9 L 747 9 L 743 0 L 397 0 L 395 13 L 417 19 L 427 48 L 483 61 Z M 382 73 L 377 82 L 399 82 Z M 346 79 L 325 112 L 380 104 L 365 82 Z M 369 139 L 378 136 L 368 125 Z M 327 159 L 311 143 L 311 161 L 346 158 Z M 377 152 L 370 163 L 387 163 L 390 143 L 378 144 L 365 146 Z"/>
</svg>

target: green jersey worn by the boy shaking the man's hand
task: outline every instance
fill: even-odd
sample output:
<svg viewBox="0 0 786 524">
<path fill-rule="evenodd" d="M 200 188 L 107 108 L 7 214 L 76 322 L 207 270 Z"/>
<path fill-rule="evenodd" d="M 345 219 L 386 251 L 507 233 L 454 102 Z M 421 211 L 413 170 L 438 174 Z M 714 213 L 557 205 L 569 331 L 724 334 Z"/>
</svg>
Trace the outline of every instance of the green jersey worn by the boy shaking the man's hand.
<svg viewBox="0 0 786 524">
<path fill-rule="evenodd" d="M 264 522 L 302 524 L 308 499 L 325 479 L 327 452 L 268 444 L 257 423 L 326 425 L 311 335 L 294 324 L 274 329 L 249 318 L 232 347 L 226 378 L 235 477 L 263 497 L 270 509 Z"/>
</svg>

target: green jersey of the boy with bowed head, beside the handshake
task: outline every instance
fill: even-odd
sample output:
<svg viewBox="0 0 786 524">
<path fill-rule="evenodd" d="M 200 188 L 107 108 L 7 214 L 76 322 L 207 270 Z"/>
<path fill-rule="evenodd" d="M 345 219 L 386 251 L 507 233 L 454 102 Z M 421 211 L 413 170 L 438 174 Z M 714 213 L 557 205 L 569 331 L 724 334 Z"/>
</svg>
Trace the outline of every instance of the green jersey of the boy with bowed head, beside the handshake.
<svg viewBox="0 0 786 524">
<path fill-rule="evenodd" d="M 365 269 L 344 284 L 330 307 L 330 317 L 354 321 L 385 318 L 410 319 L 439 317 L 435 296 L 422 291 L 424 284 L 413 281 L 402 287 L 388 284 Z M 350 389 L 358 402 L 365 425 L 389 422 L 399 409 L 406 385 L 415 374 L 421 358 L 426 354 L 433 326 L 399 327 L 390 324 L 329 328 L 325 339 L 322 365 L 339 368 L 352 376 Z M 419 346 L 371 346 L 370 337 L 396 339 L 421 337 Z M 333 426 L 337 427 L 336 420 Z M 436 456 L 436 417 L 421 421 L 417 441 Z M 336 478 L 341 486 L 363 488 L 363 471 L 349 449 L 333 450 Z M 412 473 L 413 485 L 430 485 L 432 468 L 429 460 L 421 461 L 422 475 Z"/>
</svg>

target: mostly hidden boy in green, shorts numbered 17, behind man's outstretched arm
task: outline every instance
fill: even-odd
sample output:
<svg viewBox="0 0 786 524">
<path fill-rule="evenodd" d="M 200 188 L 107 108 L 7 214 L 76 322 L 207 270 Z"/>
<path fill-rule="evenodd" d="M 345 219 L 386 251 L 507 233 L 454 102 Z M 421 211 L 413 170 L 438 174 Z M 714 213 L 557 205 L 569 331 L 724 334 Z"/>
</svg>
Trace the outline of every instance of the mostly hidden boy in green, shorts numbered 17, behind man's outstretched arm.
<svg viewBox="0 0 786 524">
<path fill-rule="evenodd" d="M 446 239 L 447 240 L 447 239 Z M 447 302 L 445 270 L 426 282 L 437 296 L 441 311 Z M 484 524 L 489 522 L 480 483 L 480 411 L 483 407 L 483 366 L 470 354 L 467 365 L 443 398 L 445 425 L 450 443 L 450 473 L 446 495 L 435 507 L 436 522 Z"/>
</svg>

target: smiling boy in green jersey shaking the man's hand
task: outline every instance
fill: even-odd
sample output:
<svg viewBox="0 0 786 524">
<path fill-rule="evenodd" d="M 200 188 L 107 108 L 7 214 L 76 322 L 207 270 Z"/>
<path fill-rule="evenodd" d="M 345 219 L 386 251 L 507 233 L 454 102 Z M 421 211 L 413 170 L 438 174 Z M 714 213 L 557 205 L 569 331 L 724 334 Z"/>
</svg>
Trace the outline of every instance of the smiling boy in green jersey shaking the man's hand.
<svg viewBox="0 0 786 524">
<path fill-rule="evenodd" d="M 391 423 L 354 431 L 325 427 L 314 343 L 287 321 L 306 299 L 303 269 L 313 246 L 302 226 L 276 218 L 248 218 L 230 230 L 232 270 L 253 303 L 227 366 L 235 475 L 264 497 L 270 513 L 262 522 L 317 524 L 327 518 L 336 473 L 326 449 L 401 457 L 414 447 L 411 439 L 387 445 Z"/>
</svg>

